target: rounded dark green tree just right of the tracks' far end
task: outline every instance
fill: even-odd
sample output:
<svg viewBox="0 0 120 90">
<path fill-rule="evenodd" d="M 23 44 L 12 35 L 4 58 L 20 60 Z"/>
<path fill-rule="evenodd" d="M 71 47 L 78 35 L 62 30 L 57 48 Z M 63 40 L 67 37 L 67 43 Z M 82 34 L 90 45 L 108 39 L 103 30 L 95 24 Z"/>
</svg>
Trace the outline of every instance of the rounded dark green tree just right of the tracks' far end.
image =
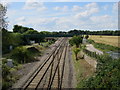
<svg viewBox="0 0 120 90">
<path fill-rule="evenodd" d="M 69 40 L 69 43 L 71 46 L 76 45 L 76 47 L 78 48 L 80 44 L 82 43 L 82 39 L 83 37 L 81 36 L 74 36 Z"/>
</svg>

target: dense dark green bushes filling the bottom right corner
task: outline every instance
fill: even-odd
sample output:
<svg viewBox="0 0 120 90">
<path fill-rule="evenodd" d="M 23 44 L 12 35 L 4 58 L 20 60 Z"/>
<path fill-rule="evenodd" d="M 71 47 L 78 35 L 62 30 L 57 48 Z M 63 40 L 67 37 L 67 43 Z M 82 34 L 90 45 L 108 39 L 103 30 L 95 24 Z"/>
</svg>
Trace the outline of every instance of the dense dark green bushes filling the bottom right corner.
<svg viewBox="0 0 120 90">
<path fill-rule="evenodd" d="M 120 88 L 120 59 L 113 60 L 107 55 L 100 56 L 95 76 L 86 80 L 83 87 Z"/>
</svg>

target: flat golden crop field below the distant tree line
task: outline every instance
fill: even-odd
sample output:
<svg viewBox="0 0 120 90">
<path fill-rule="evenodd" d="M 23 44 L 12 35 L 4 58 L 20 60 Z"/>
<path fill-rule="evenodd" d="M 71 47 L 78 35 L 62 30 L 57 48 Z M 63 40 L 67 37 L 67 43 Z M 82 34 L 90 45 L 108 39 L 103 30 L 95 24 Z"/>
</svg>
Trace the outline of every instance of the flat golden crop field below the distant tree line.
<svg viewBox="0 0 120 90">
<path fill-rule="evenodd" d="M 108 44 L 116 47 L 120 47 L 119 38 L 120 36 L 100 36 L 100 35 L 89 36 L 89 39 L 92 39 L 97 43 Z"/>
</svg>

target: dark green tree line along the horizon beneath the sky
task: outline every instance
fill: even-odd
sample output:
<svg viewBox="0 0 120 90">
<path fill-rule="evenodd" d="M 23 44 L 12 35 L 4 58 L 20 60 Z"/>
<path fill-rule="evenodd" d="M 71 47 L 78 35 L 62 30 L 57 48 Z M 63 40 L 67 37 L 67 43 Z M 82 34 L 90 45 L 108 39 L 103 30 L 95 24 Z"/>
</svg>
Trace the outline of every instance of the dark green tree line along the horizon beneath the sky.
<svg viewBox="0 0 120 90">
<path fill-rule="evenodd" d="M 25 33 L 25 34 L 42 34 L 42 35 L 55 35 L 55 34 L 71 34 L 71 35 L 113 35 L 113 36 L 119 36 L 120 31 L 119 30 L 102 30 L 102 31 L 89 31 L 89 30 L 70 30 L 68 32 L 65 31 L 59 31 L 59 32 L 49 32 L 49 31 L 41 31 L 38 32 L 37 30 L 34 30 L 33 28 L 23 27 L 20 25 L 14 25 L 13 28 L 14 33 Z"/>
</svg>

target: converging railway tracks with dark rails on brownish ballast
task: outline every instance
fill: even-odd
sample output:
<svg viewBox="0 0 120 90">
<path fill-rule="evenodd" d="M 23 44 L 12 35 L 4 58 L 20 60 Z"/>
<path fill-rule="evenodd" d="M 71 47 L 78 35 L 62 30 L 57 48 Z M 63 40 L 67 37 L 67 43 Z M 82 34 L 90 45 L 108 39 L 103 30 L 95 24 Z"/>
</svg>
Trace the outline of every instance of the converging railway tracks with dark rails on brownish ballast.
<svg viewBox="0 0 120 90">
<path fill-rule="evenodd" d="M 22 90 L 63 87 L 65 59 L 68 49 L 67 38 L 63 38 L 35 73 L 25 82 Z"/>
</svg>

